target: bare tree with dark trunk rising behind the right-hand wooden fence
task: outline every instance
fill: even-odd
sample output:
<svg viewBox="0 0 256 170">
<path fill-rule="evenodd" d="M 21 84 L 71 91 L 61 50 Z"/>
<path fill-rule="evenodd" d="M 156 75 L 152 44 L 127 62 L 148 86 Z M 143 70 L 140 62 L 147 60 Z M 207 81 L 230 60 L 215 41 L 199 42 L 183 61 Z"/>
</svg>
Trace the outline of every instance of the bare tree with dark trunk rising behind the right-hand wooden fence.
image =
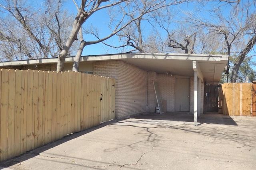
<svg viewBox="0 0 256 170">
<path fill-rule="evenodd" d="M 202 29 L 207 29 L 208 33 L 223 37 L 223 42 L 226 44 L 225 53 L 229 56 L 234 55 L 238 57 L 237 63 L 234 64 L 232 69 L 231 82 L 236 82 L 240 64 L 256 44 L 255 3 L 245 1 L 229 6 L 230 13 L 228 16 L 223 14 L 223 10 L 220 7 L 213 8 L 210 12 L 212 18 L 188 14 L 188 22 L 194 23 Z M 228 64 L 226 74 L 229 72 L 229 67 L 230 65 Z"/>
</svg>

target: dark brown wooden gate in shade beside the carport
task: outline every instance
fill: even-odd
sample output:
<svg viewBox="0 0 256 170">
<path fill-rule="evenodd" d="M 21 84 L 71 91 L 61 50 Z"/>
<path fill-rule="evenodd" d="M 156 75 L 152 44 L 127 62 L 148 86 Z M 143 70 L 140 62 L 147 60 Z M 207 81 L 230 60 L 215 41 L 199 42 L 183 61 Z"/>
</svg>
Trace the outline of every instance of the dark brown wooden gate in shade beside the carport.
<svg viewBox="0 0 256 170">
<path fill-rule="evenodd" d="M 218 112 L 219 85 L 205 84 L 204 112 Z"/>
</svg>

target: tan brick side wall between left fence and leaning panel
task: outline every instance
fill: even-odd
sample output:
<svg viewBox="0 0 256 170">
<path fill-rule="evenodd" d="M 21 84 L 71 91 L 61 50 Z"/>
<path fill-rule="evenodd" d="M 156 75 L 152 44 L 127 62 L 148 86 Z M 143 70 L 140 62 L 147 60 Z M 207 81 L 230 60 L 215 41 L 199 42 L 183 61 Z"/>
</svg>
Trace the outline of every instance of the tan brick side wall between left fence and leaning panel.
<svg viewBox="0 0 256 170">
<path fill-rule="evenodd" d="M 116 118 L 146 112 L 147 71 L 122 61 L 99 61 L 93 74 L 116 78 Z"/>
</svg>

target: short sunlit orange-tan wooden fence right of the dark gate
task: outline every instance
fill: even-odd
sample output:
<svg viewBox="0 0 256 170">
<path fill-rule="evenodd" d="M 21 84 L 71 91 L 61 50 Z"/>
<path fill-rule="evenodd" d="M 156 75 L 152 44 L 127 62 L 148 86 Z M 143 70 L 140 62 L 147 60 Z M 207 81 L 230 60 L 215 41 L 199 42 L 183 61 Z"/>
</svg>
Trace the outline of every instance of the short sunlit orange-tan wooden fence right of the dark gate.
<svg viewBox="0 0 256 170">
<path fill-rule="evenodd" d="M 219 89 L 219 113 L 256 116 L 256 84 L 224 83 Z"/>
</svg>

